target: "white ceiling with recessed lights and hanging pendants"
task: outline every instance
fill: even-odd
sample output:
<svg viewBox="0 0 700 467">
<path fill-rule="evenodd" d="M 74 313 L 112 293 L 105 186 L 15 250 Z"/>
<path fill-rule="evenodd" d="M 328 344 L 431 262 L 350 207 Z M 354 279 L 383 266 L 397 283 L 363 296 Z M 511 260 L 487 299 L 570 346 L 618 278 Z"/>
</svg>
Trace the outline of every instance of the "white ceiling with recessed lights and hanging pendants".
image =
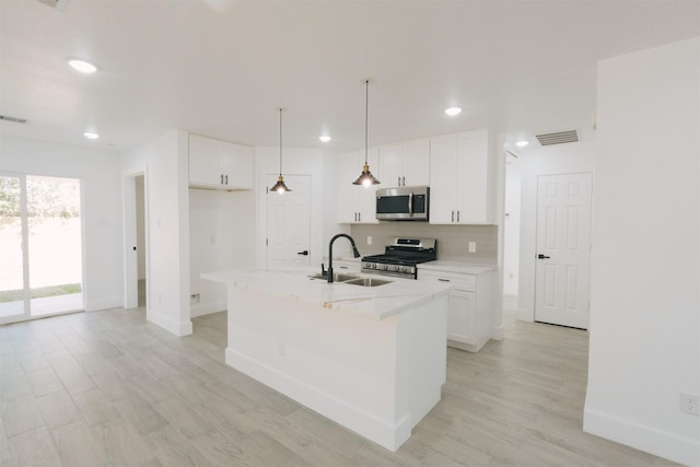
<svg viewBox="0 0 700 467">
<path fill-rule="evenodd" d="M 530 147 L 571 128 L 586 140 L 598 60 L 700 35 L 697 0 L 61 2 L 0 1 L 0 113 L 28 120 L 2 135 L 124 150 L 183 129 L 276 147 L 283 106 L 285 147 L 342 151 L 364 145 L 372 78 L 371 145 L 483 126 Z"/>
</svg>

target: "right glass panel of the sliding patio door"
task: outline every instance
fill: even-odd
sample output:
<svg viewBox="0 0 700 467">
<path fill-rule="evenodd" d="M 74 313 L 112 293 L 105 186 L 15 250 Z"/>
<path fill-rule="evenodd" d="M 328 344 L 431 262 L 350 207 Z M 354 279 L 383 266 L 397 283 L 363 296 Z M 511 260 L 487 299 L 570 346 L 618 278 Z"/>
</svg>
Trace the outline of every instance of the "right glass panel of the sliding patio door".
<svg viewBox="0 0 700 467">
<path fill-rule="evenodd" d="M 80 180 L 26 177 L 31 315 L 83 308 Z"/>
</svg>

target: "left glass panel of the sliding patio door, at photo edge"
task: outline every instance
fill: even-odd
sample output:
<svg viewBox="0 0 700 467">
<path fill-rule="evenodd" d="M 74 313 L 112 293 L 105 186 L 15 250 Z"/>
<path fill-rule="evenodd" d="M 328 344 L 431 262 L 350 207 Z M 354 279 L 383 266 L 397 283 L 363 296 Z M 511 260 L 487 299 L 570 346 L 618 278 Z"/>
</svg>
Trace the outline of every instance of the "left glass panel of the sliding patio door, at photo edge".
<svg viewBox="0 0 700 467">
<path fill-rule="evenodd" d="M 24 315 L 22 179 L 0 175 L 0 318 Z"/>
</svg>

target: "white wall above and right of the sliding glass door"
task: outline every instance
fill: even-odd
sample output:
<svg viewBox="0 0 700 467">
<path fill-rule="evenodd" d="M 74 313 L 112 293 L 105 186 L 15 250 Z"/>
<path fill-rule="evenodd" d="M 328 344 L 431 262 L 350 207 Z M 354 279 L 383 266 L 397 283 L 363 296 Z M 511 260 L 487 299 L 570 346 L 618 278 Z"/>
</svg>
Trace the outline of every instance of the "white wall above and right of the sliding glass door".
<svg viewBox="0 0 700 467">
<path fill-rule="evenodd" d="M 105 150 L 2 137 L 0 170 L 80 178 L 86 311 L 121 305 L 119 157 Z"/>
</svg>

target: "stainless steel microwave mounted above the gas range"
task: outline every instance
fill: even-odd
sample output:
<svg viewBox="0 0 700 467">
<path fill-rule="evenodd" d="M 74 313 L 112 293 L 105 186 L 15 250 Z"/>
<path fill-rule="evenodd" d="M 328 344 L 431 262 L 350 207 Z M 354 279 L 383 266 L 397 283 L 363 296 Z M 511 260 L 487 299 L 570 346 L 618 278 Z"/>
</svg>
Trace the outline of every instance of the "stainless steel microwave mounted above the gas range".
<svg viewBox="0 0 700 467">
<path fill-rule="evenodd" d="M 428 221 L 430 187 L 395 187 L 376 190 L 380 221 Z"/>
</svg>

